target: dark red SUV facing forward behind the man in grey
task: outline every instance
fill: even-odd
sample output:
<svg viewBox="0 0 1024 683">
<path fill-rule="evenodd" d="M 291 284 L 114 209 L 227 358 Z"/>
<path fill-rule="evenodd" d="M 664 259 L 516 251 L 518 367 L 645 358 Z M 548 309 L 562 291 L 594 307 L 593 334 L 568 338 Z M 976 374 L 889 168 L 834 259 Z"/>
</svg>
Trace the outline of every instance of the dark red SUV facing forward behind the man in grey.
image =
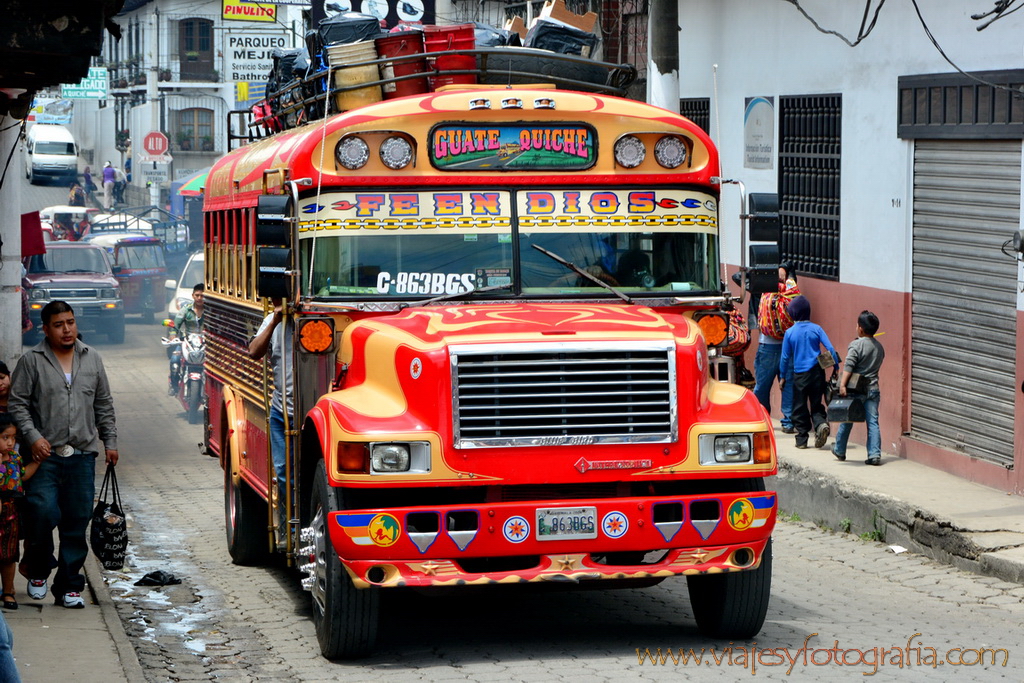
<svg viewBox="0 0 1024 683">
<path fill-rule="evenodd" d="M 34 332 L 42 330 L 43 306 L 62 300 L 75 309 L 79 329 L 105 334 L 116 344 L 124 341 L 124 302 L 105 249 L 81 242 L 50 242 L 45 254 L 27 256 L 24 264 L 23 286 L 29 293 Z"/>
</svg>

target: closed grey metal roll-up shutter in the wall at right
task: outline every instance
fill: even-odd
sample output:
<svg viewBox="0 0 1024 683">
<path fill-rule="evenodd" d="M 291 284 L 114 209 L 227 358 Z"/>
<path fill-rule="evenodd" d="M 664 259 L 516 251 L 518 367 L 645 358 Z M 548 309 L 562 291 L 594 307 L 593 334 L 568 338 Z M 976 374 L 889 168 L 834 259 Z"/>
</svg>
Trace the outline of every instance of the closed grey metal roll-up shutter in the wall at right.
<svg viewBox="0 0 1024 683">
<path fill-rule="evenodd" d="M 918 140 L 913 164 L 910 428 L 1014 461 L 1020 140 Z"/>
</svg>

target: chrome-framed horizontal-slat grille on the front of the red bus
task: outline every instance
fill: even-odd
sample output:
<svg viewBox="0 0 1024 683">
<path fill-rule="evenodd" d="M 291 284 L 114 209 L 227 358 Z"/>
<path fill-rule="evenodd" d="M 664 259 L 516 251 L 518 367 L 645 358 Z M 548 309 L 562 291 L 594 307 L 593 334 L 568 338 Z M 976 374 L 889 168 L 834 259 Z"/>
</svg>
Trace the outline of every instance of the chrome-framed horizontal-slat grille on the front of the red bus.
<svg viewBox="0 0 1024 683">
<path fill-rule="evenodd" d="M 671 341 L 450 348 L 458 449 L 676 440 Z"/>
</svg>

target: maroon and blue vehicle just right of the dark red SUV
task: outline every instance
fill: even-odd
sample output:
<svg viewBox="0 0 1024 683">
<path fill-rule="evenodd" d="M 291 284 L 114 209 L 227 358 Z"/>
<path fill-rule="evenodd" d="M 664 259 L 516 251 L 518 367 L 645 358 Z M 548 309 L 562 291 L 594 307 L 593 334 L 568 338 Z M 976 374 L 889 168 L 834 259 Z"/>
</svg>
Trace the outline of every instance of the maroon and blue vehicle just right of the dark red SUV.
<svg viewBox="0 0 1024 683">
<path fill-rule="evenodd" d="M 114 261 L 114 276 L 121 285 L 125 313 L 138 313 L 145 322 L 164 308 L 167 263 L 164 243 L 158 238 L 137 232 L 92 232 L 89 244 L 104 248 Z"/>
</svg>

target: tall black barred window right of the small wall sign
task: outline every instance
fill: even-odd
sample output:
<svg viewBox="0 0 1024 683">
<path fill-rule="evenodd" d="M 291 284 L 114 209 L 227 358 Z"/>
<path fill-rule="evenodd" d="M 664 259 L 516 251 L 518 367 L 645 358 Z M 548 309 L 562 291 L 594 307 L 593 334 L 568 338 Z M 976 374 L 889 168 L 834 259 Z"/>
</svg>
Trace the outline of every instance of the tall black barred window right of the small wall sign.
<svg viewBox="0 0 1024 683">
<path fill-rule="evenodd" d="M 839 280 L 842 118 L 842 95 L 779 97 L 779 251 L 825 280 Z"/>
</svg>

